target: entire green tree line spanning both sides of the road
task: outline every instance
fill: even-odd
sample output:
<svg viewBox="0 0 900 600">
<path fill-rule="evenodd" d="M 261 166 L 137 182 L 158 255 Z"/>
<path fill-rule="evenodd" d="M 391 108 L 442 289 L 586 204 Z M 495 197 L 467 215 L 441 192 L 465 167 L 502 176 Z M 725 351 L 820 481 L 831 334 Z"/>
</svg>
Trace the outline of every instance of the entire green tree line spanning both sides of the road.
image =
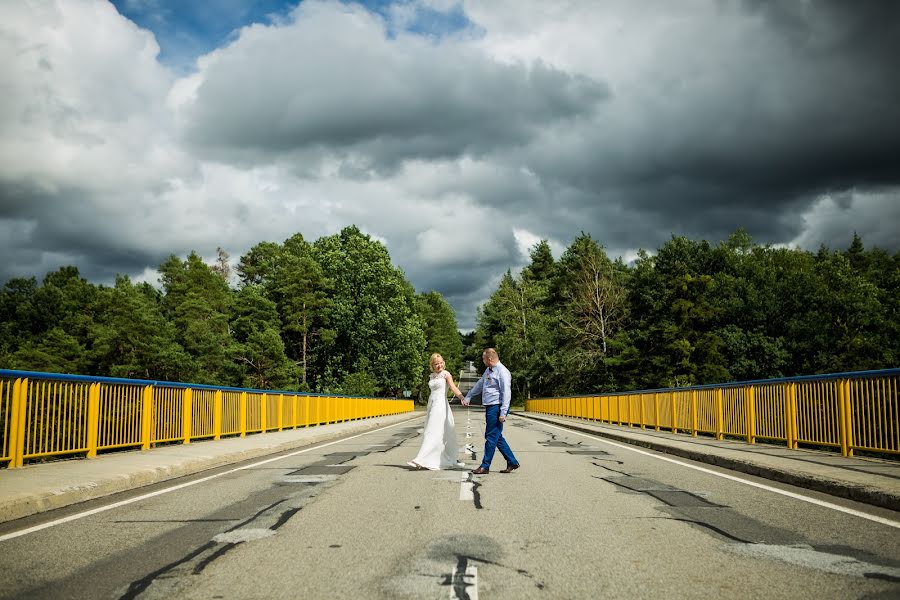
<svg viewBox="0 0 900 600">
<path fill-rule="evenodd" d="M 461 336 L 351 226 L 261 242 L 238 261 L 192 253 L 160 287 L 94 285 L 67 266 L 0 290 L 0 367 L 346 395 L 427 395 L 427 356 L 458 373 L 498 349 L 517 399 L 896 367 L 900 253 L 673 236 L 625 264 L 581 234 L 536 244 Z M 236 281 L 232 286 L 230 282 Z"/>
</svg>

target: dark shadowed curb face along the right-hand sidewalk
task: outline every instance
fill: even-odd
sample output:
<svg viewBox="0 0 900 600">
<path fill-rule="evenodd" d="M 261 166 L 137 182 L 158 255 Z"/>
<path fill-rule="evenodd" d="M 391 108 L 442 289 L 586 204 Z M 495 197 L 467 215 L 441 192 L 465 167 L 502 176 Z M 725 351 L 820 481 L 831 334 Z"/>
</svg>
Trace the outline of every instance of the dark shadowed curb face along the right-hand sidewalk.
<svg viewBox="0 0 900 600">
<path fill-rule="evenodd" d="M 665 444 L 660 441 L 639 440 L 627 435 L 616 434 L 605 430 L 592 429 L 589 427 L 582 427 L 575 423 L 545 419 L 536 417 L 532 414 L 515 414 L 516 416 L 525 419 L 549 423 L 551 425 L 557 425 L 558 427 L 564 427 L 573 431 L 580 431 L 582 433 L 589 433 L 591 435 L 609 438 L 617 442 L 631 444 L 632 446 L 640 446 L 642 448 L 648 448 L 650 450 L 655 450 L 664 454 L 672 454 L 674 456 L 688 458 L 697 462 L 703 462 L 706 464 L 715 465 L 717 467 L 723 467 L 725 469 L 747 473 L 748 475 L 754 475 L 756 477 L 762 477 L 764 479 L 778 481 L 780 483 L 787 483 L 790 485 L 795 485 L 797 487 L 815 490 L 817 492 L 824 492 L 832 496 L 847 498 L 849 500 L 862 502 L 864 504 L 871 504 L 872 506 L 887 508 L 894 511 L 900 510 L 900 495 L 893 494 L 883 489 L 866 487 L 847 481 L 816 477 L 811 473 L 792 471 L 789 469 L 777 469 L 768 465 L 761 465 L 753 461 L 738 460 L 726 456 L 719 456 L 716 454 L 707 454 L 697 450 L 690 450 L 688 448 L 680 448 L 678 446 Z"/>
</svg>

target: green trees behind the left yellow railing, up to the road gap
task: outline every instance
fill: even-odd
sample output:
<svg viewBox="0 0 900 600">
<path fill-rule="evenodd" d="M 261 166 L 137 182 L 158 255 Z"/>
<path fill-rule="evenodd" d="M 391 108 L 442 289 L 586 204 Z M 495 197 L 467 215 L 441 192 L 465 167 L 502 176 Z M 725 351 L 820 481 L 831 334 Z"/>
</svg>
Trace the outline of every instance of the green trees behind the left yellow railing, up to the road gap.
<svg viewBox="0 0 900 600">
<path fill-rule="evenodd" d="M 161 288 L 126 276 L 94 285 L 77 268 L 0 291 L 0 366 L 254 389 L 399 397 L 428 352 L 458 371 L 462 340 L 437 292 L 416 294 L 380 242 L 351 226 L 295 234 L 240 258 L 196 253 L 158 267 Z"/>
</svg>

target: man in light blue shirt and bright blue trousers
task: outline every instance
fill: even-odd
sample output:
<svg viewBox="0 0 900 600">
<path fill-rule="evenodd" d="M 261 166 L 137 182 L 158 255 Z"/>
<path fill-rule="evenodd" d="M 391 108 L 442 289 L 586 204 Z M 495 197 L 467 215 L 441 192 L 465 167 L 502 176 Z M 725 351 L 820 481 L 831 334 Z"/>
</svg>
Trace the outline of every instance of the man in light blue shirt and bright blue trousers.
<svg viewBox="0 0 900 600">
<path fill-rule="evenodd" d="M 519 468 L 519 461 L 516 460 L 509 444 L 503 437 L 503 423 L 506 421 L 506 415 L 509 414 L 509 401 L 512 397 L 510 390 L 512 376 L 509 374 L 509 369 L 500 362 L 500 357 L 497 356 L 494 348 L 485 350 L 481 355 L 481 360 L 484 361 L 487 369 L 462 401 L 465 406 L 468 406 L 472 396 L 481 392 L 481 403 L 484 405 L 484 417 L 487 420 L 484 429 L 484 456 L 481 459 L 481 466 L 472 473 L 485 475 L 490 472 L 494 450 L 500 450 L 500 454 L 506 459 L 506 468 L 500 472 L 512 473 Z"/>
</svg>

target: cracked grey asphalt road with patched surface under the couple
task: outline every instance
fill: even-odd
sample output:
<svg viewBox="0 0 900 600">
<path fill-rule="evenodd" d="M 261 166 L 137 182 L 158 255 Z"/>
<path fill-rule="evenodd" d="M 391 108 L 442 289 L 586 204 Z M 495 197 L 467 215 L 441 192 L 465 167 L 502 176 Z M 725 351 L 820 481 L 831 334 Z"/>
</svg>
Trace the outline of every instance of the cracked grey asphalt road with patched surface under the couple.
<svg viewBox="0 0 900 600">
<path fill-rule="evenodd" d="M 4 524 L 0 597 L 900 597 L 897 513 L 521 417 L 414 471 L 422 424 Z"/>
</svg>

